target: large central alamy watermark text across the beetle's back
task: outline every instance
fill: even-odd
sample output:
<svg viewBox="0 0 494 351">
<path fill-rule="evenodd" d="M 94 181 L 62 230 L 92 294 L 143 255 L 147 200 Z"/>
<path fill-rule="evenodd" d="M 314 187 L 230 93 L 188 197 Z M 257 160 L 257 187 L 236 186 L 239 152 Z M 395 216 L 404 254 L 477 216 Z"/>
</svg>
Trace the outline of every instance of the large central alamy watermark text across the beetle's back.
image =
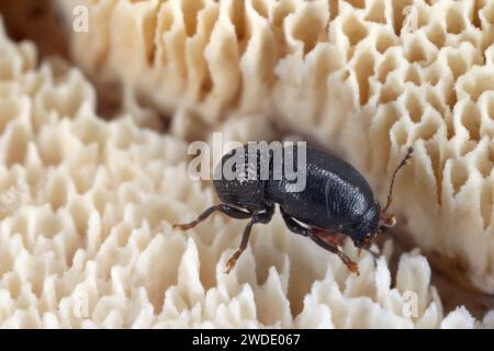
<svg viewBox="0 0 494 351">
<path fill-rule="evenodd" d="M 284 180 L 288 192 L 301 192 L 306 185 L 305 141 L 223 143 L 223 135 L 213 133 L 212 149 L 198 140 L 189 145 L 188 154 L 195 156 L 188 166 L 192 180 Z"/>
</svg>

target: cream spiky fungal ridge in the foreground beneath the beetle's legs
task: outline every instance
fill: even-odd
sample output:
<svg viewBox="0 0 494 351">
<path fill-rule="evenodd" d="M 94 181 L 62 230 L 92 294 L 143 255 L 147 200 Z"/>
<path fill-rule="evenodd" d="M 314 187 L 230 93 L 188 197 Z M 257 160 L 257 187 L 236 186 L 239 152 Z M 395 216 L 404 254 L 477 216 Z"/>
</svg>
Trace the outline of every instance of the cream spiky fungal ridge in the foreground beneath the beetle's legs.
<svg viewBox="0 0 494 351">
<path fill-rule="evenodd" d="M 79 70 L 37 68 L 34 46 L 1 30 L 0 54 L 1 327 L 481 326 L 463 307 L 442 316 L 417 252 L 401 257 L 393 285 L 390 245 L 375 264 L 363 254 L 356 276 L 278 215 L 223 273 L 245 223 L 171 229 L 214 200 L 188 180 L 183 141 L 130 115 L 98 117 Z M 225 135 L 256 131 L 242 121 Z"/>
</svg>

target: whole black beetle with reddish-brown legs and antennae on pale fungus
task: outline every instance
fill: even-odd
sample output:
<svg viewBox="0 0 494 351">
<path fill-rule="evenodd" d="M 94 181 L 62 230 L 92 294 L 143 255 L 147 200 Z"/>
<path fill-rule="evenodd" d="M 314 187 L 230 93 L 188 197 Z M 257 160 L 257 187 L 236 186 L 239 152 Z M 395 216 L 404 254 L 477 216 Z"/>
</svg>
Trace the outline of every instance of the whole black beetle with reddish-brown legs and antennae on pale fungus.
<svg viewBox="0 0 494 351">
<path fill-rule="evenodd" d="M 305 177 L 303 190 L 292 191 L 293 179 L 289 180 L 285 174 L 274 177 L 278 163 L 284 163 L 289 157 L 292 158 L 292 165 L 296 163 L 300 146 L 279 145 L 270 147 L 268 154 L 255 149 L 256 158 L 251 161 L 248 145 L 244 145 L 224 155 L 215 169 L 213 184 L 222 204 L 209 207 L 195 220 L 173 225 L 173 228 L 190 229 L 215 211 L 234 218 L 250 218 L 239 248 L 226 264 L 225 272 L 228 273 L 247 247 L 252 225 L 269 223 L 274 213 L 274 205 L 279 204 L 283 220 L 291 231 L 308 237 L 324 249 L 338 254 L 351 272 L 359 274 L 357 263 L 343 253 L 330 238 L 343 234 L 349 236 L 359 250 L 370 251 L 378 231 L 394 226 L 395 218 L 386 214 L 386 211 L 391 204 L 395 176 L 412 157 L 413 148 L 408 148 L 406 156 L 396 167 L 386 206 L 381 210 L 369 183 L 351 165 L 321 149 L 303 147 L 305 163 L 303 169 L 296 170 Z M 274 157 L 277 152 L 281 157 Z M 243 161 L 231 162 L 232 157 L 243 155 Z M 228 162 L 233 165 L 234 171 L 240 171 L 236 174 L 242 177 L 226 179 L 223 173 L 217 177 L 218 171 L 223 172 Z M 269 174 L 262 178 L 265 166 Z M 237 169 L 238 167 L 240 169 Z"/>
</svg>

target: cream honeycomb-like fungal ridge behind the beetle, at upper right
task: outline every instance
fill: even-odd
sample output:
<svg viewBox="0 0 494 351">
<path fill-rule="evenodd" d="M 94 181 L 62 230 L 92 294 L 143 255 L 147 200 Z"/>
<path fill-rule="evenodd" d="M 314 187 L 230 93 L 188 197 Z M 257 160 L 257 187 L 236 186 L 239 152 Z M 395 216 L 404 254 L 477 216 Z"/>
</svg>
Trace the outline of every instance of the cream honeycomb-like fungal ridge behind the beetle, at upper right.
<svg viewBox="0 0 494 351">
<path fill-rule="evenodd" d="M 494 2 L 58 1 L 87 71 L 209 123 L 263 113 L 347 154 L 436 264 L 494 293 Z M 98 33 L 98 35 L 94 35 Z M 125 63 L 125 70 L 122 64 Z"/>
</svg>

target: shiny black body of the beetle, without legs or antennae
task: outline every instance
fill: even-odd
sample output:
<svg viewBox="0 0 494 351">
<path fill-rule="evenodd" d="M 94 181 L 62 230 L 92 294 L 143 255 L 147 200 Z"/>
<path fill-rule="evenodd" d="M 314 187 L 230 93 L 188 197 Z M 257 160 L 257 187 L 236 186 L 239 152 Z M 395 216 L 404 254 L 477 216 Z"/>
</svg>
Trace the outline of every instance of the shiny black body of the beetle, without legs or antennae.
<svg viewBox="0 0 494 351">
<path fill-rule="evenodd" d="M 249 163 L 247 146 L 223 156 L 215 170 L 218 174 L 235 152 L 245 152 L 245 173 L 256 178 L 214 180 L 214 188 L 223 203 L 243 208 L 249 213 L 272 212 L 279 204 L 283 219 L 292 231 L 306 235 L 303 228 L 317 228 L 327 233 L 345 234 L 360 247 L 362 240 L 375 234 L 380 222 L 380 205 L 363 177 L 344 160 L 313 147 L 305 147 L 306 168 L 296 169 L 299 177 L 305 177 L 305 189 L 293 190 L 293 180 L 273 177 L 274 162 L 284 162 L 293 155 L 296 165 L 297 149 L 280 147 L 282 157 L 258 154 L 257 162 Z M 269 163 L 269 179 L 260 177 L 260 167 Z M 292 165 L 292 163 L 291 163 Z"/>
</svg>

